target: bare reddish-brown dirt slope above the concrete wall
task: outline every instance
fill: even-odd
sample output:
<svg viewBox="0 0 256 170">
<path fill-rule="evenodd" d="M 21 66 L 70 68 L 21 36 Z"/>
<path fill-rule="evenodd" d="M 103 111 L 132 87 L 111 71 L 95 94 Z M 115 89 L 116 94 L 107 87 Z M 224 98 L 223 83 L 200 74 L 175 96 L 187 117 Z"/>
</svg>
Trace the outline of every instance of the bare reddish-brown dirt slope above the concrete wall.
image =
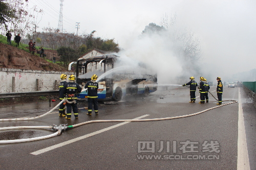
<svg viewBox="0 0 256 170">
<path fill-rule="evenodd" d="M 3 43 L 0 43 L 0 68 L 68 71 L 67 68 Z"/>
</svg>

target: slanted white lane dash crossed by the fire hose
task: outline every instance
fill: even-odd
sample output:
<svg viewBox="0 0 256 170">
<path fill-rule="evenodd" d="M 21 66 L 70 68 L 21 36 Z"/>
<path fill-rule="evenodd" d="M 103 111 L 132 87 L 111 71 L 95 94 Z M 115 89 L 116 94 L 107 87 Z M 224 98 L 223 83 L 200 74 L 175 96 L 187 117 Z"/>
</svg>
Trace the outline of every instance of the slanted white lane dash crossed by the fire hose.
<svg viewBox="0 0 256 170">
<path fill-rule="evenodd" d="M 136 118 L 134 118 L 134 119 L 140 119 L 140 118 L 143 118 L 143 117 L 146 117 L 146 116 L 149 116 L 149 115 L 148 115 L 148 114 L 145 114 L 145 115 L 143 115 L 143 116 L 136 117 Z M 98 131 L 96 131 L 96 132 L 92 132 L 92 133 L 89 133 L 89 134 L 87 134 L 87 135 L 83 135 L 83 136 L 80 136 L 80 137 L 77 137 L 77 138 L 74 138 L 74 139 L 71 139 L 71 140 L 68 140 L 68 141 L 65 141 L 65 142 L 61 142 L 61 143 L 52 145 L 51 147 L 48 147 L 48 148 L 45 148 L 45 149 L 41 149 L 41 150 L 32 152 L 32 153 L 30 153 L 30 154 L 32 154 L 32 155 L 39 155 L 39 154 L 42 154 L 42 153 L 45 153 L 45 152 L 54 150 L 54 149 L 56 149 L 56 148 L 63 147 L 64 145 L 67 145 L 67 144 L 76 142 L 76 141 L 78 141 L 78 140 L 85 139 L 85 138 L 88 138 L 88 137 L 97 135 L 97 134 L 99 134 L 99 133 L 102 133 L 102 132 L 105 132 L 105 131 L 114 129 L 114 128 L 116 128 L 116 127 L 119 127 L 119 126 L 122 126 L 122 125 L 125 125 L 125 124 L 128 124 L 128 123 L 130 123 L 130 122 L 123 122 L 123 123 L 120 123 L 120 124 L 117 124 L 117 125 L 114 125 L 114 126 L 111 126 L 111 127 L 108 127 L 108 128 L 104 128 L 104 129 L 98 130 Z"/>
</svg>

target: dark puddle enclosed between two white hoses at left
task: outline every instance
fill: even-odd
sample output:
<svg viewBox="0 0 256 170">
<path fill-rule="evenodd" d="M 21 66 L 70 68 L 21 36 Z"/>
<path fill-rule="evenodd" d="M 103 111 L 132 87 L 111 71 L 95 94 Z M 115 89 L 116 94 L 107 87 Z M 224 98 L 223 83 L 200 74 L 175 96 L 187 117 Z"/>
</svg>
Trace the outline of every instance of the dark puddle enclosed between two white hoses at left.
<svg viewBox="0 0 256 170">
<path fill-rule="evenodd" d="M 15 139 L 26 139 L 33 137 L 40 137 L 50 135 L 53 132 L 49 130 L 6 130 L 0 132 L 0 140 L 15 140 Z"/>
</svg>

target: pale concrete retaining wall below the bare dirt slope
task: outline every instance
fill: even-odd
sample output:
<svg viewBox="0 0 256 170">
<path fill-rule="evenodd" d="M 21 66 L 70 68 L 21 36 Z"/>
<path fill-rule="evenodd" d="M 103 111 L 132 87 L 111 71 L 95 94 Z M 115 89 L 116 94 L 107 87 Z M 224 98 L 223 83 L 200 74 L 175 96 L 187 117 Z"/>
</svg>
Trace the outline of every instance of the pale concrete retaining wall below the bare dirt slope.
<svg viewBox="0 0 256 170">
<path fill-rule="evenodd" d="M 58 90 L 61 74 L 71 72 L 0 68 L 0 93 Z"/>
</svg>

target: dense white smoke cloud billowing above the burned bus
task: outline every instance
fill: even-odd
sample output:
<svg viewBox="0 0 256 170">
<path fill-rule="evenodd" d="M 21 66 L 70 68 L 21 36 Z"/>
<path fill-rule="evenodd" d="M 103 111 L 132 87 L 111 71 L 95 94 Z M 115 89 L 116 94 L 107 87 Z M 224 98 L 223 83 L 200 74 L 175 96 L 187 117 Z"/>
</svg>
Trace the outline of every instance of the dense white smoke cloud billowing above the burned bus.
<svg viewBox="0 0 256 170">
<path fill-rule="evenodd" d="M 182 43 L 172 37 L 170 31 L 142 34 L 126 42 L 126 49 L 118 55 L 127 65 L 143 62 L 150 66 L 156 71 L 159 84 L 174 84 L 181 78 L 187 81 L 198 72 L 198 67 L 185 57 Z"/>
</svg>

